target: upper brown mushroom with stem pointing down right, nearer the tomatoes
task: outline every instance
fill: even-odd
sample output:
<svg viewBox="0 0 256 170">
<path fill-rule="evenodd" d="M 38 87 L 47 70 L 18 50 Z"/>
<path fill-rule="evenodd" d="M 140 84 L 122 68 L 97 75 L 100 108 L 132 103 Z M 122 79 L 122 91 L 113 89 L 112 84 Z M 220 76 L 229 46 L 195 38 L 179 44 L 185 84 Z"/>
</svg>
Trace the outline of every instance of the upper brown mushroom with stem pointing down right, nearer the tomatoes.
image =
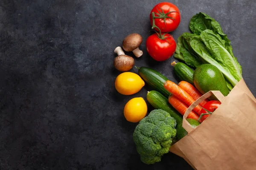
<svg viewBox="0 0 256 170">
<path fill-rule="evenodd" d="M 142 42 L 140 34 L 133 33 L 125 37 L 123 40 L 123 48 L 125 51 L 132 51 L 134 55 L 139 58 L 142 56 L 143 51 L 140 50 L 139 46 Z"/>
</svg>

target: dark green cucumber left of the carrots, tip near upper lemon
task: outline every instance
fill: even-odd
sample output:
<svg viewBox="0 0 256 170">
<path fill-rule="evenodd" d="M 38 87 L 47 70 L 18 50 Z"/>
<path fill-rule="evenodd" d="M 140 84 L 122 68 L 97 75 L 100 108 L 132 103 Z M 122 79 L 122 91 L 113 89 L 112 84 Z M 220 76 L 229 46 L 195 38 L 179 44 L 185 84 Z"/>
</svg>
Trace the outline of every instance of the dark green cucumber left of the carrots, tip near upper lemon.
<svg viewBox="0 0 256 170">
<path fill-rule="evenodd" d="M 148 67 L 140 67 L 137 69 L 139 70 L 140 77 L 147 82 L 148 85 L 164 96 L 169 97 L 171 93 L 163 87 L 164 82 L 168 79 L 163 74 Z"/>
</svg>

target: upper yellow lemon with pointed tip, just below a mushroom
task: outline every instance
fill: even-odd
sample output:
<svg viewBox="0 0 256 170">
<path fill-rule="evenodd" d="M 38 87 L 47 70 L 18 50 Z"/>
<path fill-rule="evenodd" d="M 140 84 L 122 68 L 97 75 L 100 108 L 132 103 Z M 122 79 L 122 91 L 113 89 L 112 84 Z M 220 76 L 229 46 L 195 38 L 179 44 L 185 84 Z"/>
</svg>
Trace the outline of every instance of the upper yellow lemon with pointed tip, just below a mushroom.
<svg viewBox="0 0 256 170">
<path fill-rule="evenodd" d="M 138 74 L 124 72 L 116 77 L 115 87 L 120 94 L 131 95 L 140 91 L 145 85 Z"/>
</svg>

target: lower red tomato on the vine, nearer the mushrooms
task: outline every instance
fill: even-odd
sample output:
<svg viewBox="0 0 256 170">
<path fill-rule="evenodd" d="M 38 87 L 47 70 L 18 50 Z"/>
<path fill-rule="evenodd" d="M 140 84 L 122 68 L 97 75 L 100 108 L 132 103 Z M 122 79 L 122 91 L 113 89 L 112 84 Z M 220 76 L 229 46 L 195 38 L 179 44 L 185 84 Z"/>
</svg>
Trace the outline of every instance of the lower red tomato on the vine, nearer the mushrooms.
<svg viewBox="0 0 256 170">
<path fill-rule="evenodd" d="M 157 33 L 154 33 L 148 37 L 146 47 L 148 54 L 153 59 L 157 61 L 165 61 L 174 54 L 176 50 L 176 42 L 170 34 L 165 34 L 163 37 L 159 37 Z"/>
</svg>

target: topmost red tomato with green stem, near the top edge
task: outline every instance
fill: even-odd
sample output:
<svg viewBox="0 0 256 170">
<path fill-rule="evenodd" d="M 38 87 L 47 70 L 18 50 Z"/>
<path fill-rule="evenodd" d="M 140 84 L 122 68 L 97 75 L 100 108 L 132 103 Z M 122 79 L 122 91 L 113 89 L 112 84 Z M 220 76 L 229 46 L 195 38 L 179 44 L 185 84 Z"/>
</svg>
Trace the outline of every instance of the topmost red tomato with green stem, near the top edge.
<svg viewBox="0 0 256 170">
<path fill-rule="evenodd" d="M 156 6 L 154 6 L 152 11 L 150 12 L 151 26 L 153 26 L 152 12 L 155 13 L 154 14 L 155 17 L 162 17 L 162 18 L 155 18 L 155 25 L 158 28 L 160 28 L 162 32 L 174 31 L 180 24 L 180 11 L 177 8 L 177 6 L 175 6 L 172 3 L 164 2 L 164 3 L 158 3 Z M 164 18 L 166 20 L 166 23 L 164 22 Z M 157 28 L 154 28 L 154 29 L 156 31 L 159 31 Z"/>
</svg>

